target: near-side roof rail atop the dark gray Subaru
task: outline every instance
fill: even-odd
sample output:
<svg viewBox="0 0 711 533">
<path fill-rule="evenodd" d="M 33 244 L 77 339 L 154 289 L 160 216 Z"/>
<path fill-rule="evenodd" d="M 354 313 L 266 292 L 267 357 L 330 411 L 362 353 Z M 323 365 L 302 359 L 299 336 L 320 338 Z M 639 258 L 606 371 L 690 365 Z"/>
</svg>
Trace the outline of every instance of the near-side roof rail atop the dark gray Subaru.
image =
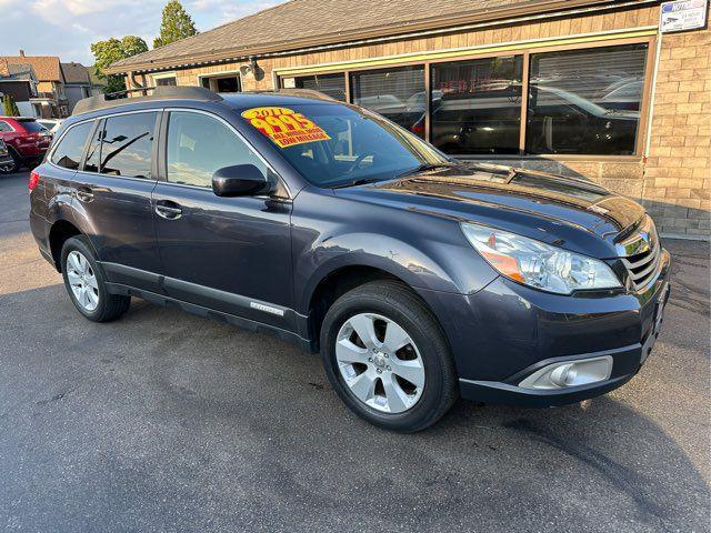
<svg viewBox="0 0 711 533">
<path fill-rule="evenodd" d="M 152 91 L 152 94 L 148 94 Z M 140 92 L 142 97 L 128 98 L 133 92 Z M 128 89 L 126 91 L 110 92 L 108 94 L 97 94 L 96 97 L 84 98 L 77 102 L 72 117 L 77 114 L 89 113 L 100 109 L 114 108 L 117 105 L 126 105 L 128 103 L 150 102 L 154 100 L 197 100 L 200 102 L 220 102 L 222 97 L 217 92 L 212 92 L 204 87 L 143 87 L 140 89 Z"/>
</svg>

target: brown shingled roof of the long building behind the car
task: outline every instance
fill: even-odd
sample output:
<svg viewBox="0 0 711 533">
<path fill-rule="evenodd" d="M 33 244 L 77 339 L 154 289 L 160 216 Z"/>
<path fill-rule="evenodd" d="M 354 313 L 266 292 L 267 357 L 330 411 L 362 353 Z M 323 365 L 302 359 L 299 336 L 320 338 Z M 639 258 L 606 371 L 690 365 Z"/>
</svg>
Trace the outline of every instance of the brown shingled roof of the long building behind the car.
<svg viewBox="0 0 711 533">
<path fill-rule="evenodd" d="M 156 50 L 108 73 L 260 56 L 619 0 L 291 0 Z"/>
</svg>

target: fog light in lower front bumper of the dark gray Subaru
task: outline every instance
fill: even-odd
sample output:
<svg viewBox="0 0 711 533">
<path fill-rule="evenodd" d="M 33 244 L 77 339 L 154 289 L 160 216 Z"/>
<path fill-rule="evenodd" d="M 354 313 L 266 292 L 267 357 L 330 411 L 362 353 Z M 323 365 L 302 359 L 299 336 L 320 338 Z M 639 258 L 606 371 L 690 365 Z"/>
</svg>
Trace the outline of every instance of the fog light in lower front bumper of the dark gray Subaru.
<svg viewBox="0 0 711 533">
<path fill-rule="evenodd" d="M 519 383 L 522 389 L 564 389 L 605 381 L 612 373 L 612 356 L 563 361 L 537 370 Z"/>
</svg>

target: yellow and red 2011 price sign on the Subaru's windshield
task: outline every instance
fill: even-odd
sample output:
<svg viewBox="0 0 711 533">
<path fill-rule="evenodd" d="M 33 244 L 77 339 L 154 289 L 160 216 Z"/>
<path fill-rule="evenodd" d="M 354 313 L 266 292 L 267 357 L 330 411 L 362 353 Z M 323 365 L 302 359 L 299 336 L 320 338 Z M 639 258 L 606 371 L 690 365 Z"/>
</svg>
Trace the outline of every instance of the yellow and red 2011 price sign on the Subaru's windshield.
<svg viewBox="0 0 711 533">
<path fill-rule="evenodd" d="M 279 148 L 331 139 L 322 128 L 292 109 L 254 108 L 242 112 L 242 117 Z"/>
</svg>

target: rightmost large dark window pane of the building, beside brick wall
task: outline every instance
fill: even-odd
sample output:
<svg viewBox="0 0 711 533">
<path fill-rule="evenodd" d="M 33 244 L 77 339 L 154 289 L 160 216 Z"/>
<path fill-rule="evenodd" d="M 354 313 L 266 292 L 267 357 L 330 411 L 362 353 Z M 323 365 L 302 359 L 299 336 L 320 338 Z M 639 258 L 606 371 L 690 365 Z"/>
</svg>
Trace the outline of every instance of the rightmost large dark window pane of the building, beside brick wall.
<svg viewBox="0 0 711 533">
<path fill-rule="evenodd" d="M 647 44 L 532 53 L 525 151 L 633 154 L 645 61 Z"/>
</svg>

